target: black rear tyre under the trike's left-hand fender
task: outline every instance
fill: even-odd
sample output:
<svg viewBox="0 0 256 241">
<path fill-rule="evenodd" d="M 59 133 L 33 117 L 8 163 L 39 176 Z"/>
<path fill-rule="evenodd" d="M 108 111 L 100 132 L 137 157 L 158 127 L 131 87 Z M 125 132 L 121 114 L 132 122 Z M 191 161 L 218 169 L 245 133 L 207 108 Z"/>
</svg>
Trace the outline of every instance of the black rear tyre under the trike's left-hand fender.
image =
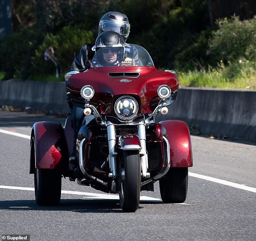
<svg viewBox="0 0 256 241">
<path fill-rule="evenodd" d="M 40 206 L 58 205 L 61 200 L 61 175 L 52 169 L 34 172 L 36 203 Z"/>
</svg>

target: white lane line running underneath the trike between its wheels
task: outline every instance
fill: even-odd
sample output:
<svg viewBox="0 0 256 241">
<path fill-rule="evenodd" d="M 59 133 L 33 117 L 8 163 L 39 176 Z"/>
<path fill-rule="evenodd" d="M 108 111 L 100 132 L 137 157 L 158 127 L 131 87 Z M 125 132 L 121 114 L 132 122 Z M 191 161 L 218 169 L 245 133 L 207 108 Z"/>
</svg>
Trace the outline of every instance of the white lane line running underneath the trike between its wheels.
<svg viewBox="0 0 256 241">
<path fill-rule="evenodd" d="M 25 190 L 25 191 L 34 191 L 35 190 L 32 187 L 13 187 L 13 186 L 1 186 L 1 185 L 0 185 L 0 188 Z M 112 195 L 112 194 L 87 193 L 87 192 L 80 192 L 80 191 L 64 191 L 64 190 L 61 190 L 61 193 L 63 193 L 63 194 L 73 194 L 73 195 L 84 195 L 84 196 L 89 196 L 90 198 L 119 200 L 118 195 Z M 157 201 L 157 202 L 160 201 L 160 202 L 162 202 L 162 200 L 159 199 L 159 198 L 147 197 L 147 196 L 141 196 L 140 201 Z"/>
</svg>

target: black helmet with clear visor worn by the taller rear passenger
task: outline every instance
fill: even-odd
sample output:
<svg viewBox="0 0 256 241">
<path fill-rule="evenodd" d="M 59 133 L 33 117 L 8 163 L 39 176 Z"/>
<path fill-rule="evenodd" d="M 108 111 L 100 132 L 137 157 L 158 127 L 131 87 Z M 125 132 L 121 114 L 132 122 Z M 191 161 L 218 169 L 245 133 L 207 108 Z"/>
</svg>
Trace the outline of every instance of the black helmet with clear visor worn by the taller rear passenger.
<svg viewBox="0 0 256 241">
<path fill-rule="evenodd" d="M 130 32 L 127 16 L 120 12 L 107 12 L 103 15 L 99 23 L 99 34 L 109 30 L 120 33 L 126 42 Z"/>
</svg>

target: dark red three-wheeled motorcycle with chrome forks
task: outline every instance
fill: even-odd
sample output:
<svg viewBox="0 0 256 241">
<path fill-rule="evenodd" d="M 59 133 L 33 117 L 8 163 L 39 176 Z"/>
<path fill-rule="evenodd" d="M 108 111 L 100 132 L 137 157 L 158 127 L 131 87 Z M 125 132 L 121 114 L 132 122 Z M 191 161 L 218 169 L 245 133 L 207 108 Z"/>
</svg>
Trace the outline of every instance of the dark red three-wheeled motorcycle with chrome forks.
<svg viewBox="0 0 256 241">
<path fill-rule="evenodd" d="M 135 47 L 141 66 L 92 66 L 65 75 L 73 104 L 84 109 L 84 118 L 95 119 L 94 126 L 84 125 L 78 133 L 78 166 L 83 177 L 77 183 L 119 193 L 124 212 L 135 212 L 140 192 L 153 191 L 156 181 L 164 203 L 185 202 L 188 167 L 193 164 L 187 124 L 154 122 L 156 114 L 167 114 L 175 101 L 175 72 L 157 70 L 147 51 Z M 71 122 L 69 116 L 65 126 L 46 121 L 33 125 L 30 173 L 39 205 L 59 204 L 62 177 L 75 179 L 69 164 Z"/>
</svg>

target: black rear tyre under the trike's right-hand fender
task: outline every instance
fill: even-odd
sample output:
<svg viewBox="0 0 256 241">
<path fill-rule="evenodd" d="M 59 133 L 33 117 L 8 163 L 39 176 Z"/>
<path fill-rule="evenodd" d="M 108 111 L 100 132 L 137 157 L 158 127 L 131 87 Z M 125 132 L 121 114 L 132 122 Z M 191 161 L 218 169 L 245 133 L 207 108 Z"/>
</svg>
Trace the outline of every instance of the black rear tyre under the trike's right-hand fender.
<svg viewBox="0 0 256 241">
<path fill-rule="evenodd" d="M 183 203 L 187 197 L 188 168 L 170 168 L 159 180 L 161 198 L 164 203 Z"/>
</svg>

